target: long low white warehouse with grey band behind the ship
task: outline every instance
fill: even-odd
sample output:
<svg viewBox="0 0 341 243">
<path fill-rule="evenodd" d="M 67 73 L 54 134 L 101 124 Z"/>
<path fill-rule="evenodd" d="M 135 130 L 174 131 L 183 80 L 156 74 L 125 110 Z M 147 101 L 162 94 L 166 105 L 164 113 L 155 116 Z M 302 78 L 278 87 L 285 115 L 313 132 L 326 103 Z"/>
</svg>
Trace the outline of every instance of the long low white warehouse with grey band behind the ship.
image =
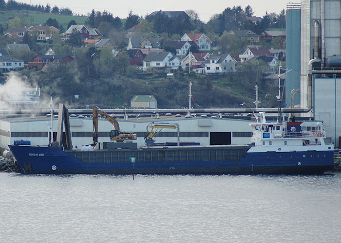
<svg viewBox="0 0 341 243">
<path fill-rule="evenodd" d="M 130 117 L 128 120 L 118 119 L 120 130 L 134 132 L 137 135 L 137 146 L 145 146 L 144 137 L 148 134 L 147 125 L 155 123 L 178 123 L 181 142 L 197 142 L 200 145 L 213 144 L 249 144 L 252 136 L 250 120 L 217 119 L 206 117 L 160 116 Z M 113 125 L 105 120 L 98 121 L 98 142 L 110 141 Z M 54 138 L 57 137 L 57 118 L 52 121 Z M 47 145 L 51 137 L 51 116 L 2 118 L 0 120 L 0 148 L 8 149 L 9 144 L 30 143 L 31 145 Z M 93 143 L 92 117 L 70 117 L 72 144 L 74 149 Z M 164 128 L 155 137 L 156 143 L 176 142 L 177 131 Z"/>
</svg>

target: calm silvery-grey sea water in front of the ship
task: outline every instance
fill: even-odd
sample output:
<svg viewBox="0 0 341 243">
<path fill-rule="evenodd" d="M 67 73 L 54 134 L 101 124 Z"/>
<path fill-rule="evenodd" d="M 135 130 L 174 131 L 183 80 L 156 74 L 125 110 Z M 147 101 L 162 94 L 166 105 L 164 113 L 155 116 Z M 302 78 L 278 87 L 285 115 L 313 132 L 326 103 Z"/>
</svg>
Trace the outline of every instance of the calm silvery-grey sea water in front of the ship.
<svg viewBox="0 0 341 243">
<path fill-rule="evenodd" d="M 341 174 L 0 173 L 1 242 L 341 242 Z"/>
</svg>

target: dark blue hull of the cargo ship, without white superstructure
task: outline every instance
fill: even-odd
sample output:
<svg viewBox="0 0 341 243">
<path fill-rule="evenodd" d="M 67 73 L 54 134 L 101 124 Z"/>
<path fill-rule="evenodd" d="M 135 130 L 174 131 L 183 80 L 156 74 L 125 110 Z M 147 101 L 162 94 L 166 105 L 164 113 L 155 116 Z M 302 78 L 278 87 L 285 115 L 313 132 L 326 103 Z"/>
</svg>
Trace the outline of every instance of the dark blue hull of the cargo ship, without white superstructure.
<svg viewBox="0 0 341 243">
<path fill-rule="evenodd" d="M 236 155 L 227 159 L 227 152 L 222 150 L 227 147 L 206 149 L 204 152 L 208 152 L 208 157 L 205 159 L 203 150 L 197 149 L 195 152 L 189 147 L 181 150 L 183 157 L 176 158 L 176 148 L 121 150 L 114 152 L 116 154 L 113 156 L 110 154 L 113 152 L 100 150 L 63 151 L 57 147 L 22 145 L 9 147 L 26 174 L 322 174 L 331 170 L 334 163 L 333 151 L 247 153 L 246 146 L 238 151 L 228 150 Z M 200 152 L 201 159 L 198 159 Z M 149 153 L 151 157 L 147 158 Z M 174 159 L 162 157 L 167 153 L 173 153 Z M 135 163 L 128 161 L 130 155 L 137 156 Z"/>
</svg>

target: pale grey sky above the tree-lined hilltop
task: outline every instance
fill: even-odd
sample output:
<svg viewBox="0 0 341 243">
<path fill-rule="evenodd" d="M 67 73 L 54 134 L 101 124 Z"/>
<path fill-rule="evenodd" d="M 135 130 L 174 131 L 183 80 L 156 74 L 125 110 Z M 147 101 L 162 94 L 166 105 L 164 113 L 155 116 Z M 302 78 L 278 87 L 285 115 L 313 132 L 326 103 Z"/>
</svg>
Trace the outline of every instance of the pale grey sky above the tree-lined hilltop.
<svg viewBox="0 0 341 243">
<path fill-rule="evenodd" d="M 220 14 L 227 7 L 241 5 L 245 8 L 250 5 L 257 17 L 263 17 L 265 12 L 279 14 L 282 9 L 286 9 L 286 0 L 201 0 L 201 1 L 183 1 L 183 0 L 18 0 L 19 2 L 31 3 L 33 5 L 47 3 L 51 8 L 57 7 L 70 8 L 76 14 L 87 15 L 92 9 L 95 11 L 107 10 L 114 17 L 126 18 L 129 11 L 138 16 L 146 16 L 154 11 L 186 11 L 194 10 L 201 21 L 207 22 L 210 17 L 215 14 Z M 296 3 L 300 1 L 297 0 Z"/>
</svg>

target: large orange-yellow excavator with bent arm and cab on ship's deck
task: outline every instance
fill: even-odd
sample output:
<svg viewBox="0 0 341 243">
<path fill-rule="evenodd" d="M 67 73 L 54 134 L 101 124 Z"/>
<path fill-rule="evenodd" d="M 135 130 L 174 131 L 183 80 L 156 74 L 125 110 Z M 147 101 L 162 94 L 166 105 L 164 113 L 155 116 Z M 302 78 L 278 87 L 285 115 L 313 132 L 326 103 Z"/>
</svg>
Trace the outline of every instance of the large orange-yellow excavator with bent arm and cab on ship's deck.
<svg viewBox="0 0 341 243">
<path fill-rule="evenodd" d="M 93 146 L 98 142 L 98 115 L 103 116 L 106 120 L 113 124 L 114 129 L 110 131 L 110 139 L 116 142 L 124 142 L 127 140 L 136 140 L 135 133 L 124 133 L 119 129 L 117 120 L 110 116 L 108 113 L 102 111 L 98 106 L 94 106 L 93 109 Z"/>
</svg>

